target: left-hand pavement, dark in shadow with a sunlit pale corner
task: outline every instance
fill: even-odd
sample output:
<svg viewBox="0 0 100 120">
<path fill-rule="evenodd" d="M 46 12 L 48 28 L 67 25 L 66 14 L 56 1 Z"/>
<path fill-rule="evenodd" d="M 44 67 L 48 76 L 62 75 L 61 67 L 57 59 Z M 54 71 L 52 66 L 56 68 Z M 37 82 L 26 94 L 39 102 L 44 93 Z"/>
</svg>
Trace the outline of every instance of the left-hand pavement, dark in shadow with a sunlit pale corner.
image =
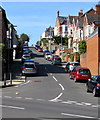
<svg viewBox="0 0 100 120">
<path fill-rule="evenodd" d="M 9 79 L 0 81 L 0 88 L 15 86 L 26 82 L 26 77 L 21 75 L 21 59 L 13 60 L 13 63 L 10 65 L 10 73 L 7 74 Z M 5 75 L 6 76 L 6 75 Z"/>
</svg>

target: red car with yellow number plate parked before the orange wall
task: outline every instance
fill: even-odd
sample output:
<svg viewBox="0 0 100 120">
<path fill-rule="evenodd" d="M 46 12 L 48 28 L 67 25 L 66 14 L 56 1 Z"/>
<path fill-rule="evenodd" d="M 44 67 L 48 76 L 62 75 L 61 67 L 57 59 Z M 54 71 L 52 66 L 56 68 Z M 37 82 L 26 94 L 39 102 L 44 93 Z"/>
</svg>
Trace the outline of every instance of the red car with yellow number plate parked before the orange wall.
<svg viewBox="0 0 100 120">
<path fill-rule="evenodd" d="M 88 68 L 85 67 L 75 67 L 70 72 L 70 79 L 74 79 L 75 82 L 79 80 L 85 80 L 91 79 L 91 72 Z"/>
</svg>

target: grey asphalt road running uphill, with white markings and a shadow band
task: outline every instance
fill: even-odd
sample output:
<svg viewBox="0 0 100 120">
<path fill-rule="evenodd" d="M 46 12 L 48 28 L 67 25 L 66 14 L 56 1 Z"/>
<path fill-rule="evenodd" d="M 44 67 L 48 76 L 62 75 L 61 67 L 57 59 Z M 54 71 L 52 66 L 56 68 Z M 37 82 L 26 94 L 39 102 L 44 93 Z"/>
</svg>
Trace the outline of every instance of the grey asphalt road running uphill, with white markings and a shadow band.
<svg viewBox="0 0 100 120">
<path fill-rule="evenodd" d="M 42 53 L 31 49 L 38 75 L 27 77 L 25 84 L 2 89 L 2 117 L 35 120 L 99 119 L 99 98 L 86 92 L 85 83 L 70 80 L 62 66 L 52 65 Z"/>
</svg>

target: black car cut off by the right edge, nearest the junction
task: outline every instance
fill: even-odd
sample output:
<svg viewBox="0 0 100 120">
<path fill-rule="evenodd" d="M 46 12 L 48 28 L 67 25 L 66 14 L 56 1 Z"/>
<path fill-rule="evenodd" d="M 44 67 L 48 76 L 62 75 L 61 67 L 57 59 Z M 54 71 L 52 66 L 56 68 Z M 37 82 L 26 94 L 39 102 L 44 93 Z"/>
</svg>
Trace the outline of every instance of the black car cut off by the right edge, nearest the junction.
<svg viewBox="0 0 100 120">
<path fill-rule="evenodd" d="M 94 75 L 86 83 L 87 92 L 92 92 L 93 96 L 100 96 L 100 75 Z"/>
</svg>

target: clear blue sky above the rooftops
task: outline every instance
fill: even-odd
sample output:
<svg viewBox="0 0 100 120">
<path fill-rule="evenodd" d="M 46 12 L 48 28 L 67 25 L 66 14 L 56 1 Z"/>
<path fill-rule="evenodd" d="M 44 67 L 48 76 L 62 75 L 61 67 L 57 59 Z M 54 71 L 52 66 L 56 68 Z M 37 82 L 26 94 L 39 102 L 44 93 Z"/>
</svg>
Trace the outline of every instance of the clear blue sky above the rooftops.
<svg viewBox="0 0 100 120">
<path fill-rule="evenodd" d="M 57 11 L 60 16 L 78 15 L 82 9 L 95 9 L 98 2 L 2 2 L 8 20 L 15 26 L 17 34 L 27 34 L 29 45 L 36 44 L 46 28 L 55 26 Z"/>
</svg>

